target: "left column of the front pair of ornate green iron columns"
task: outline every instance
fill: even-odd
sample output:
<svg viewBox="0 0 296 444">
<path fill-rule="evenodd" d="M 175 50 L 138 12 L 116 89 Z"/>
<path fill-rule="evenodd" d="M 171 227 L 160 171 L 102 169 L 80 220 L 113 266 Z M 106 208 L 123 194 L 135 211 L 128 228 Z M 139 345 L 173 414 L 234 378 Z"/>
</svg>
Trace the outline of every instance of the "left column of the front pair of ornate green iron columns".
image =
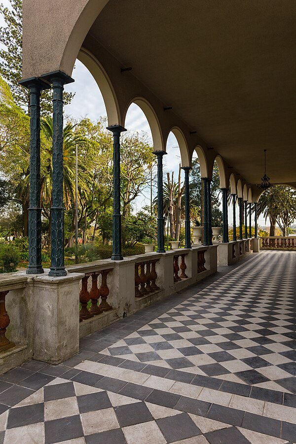
<svg viewBox="0 0 296 444">
<path fill-rule="evenodd" d="M 23 80 L 20 84 L 27 87 L 30 94 L 29 264 L 26 273 L 39 274 L 44 273 L 41 265 L 40 92 L 45 88 L 36 77 Z"/>
</svg>

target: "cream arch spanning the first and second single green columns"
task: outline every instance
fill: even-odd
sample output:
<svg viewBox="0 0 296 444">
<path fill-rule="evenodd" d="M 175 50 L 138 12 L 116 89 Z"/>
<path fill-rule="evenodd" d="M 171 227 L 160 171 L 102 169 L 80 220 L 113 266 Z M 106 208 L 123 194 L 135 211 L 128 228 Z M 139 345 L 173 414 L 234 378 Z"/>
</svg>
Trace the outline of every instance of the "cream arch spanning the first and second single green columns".
<svg viewBox="0 0 296 444">
<path fill-rule="evenodd" d="M 135 96 L 132 99 L 130 99 L 125 106 L 123 116 L 122 116 L 122 125 L 124 126 L 126 113 L 132 103 L 135 103 L 138 105 L 139 108 L 144 112 L 152 134 L 152 141 L 153 141 L 153 147 L 155 151 L 165 151 L 164 144 L 163 144 L 163 138 L 161 134 L 160 129 L 160 123 L 158 120 L 158 117 L 156 115 L 156 112 L 144 97 Z"/>
</svg>

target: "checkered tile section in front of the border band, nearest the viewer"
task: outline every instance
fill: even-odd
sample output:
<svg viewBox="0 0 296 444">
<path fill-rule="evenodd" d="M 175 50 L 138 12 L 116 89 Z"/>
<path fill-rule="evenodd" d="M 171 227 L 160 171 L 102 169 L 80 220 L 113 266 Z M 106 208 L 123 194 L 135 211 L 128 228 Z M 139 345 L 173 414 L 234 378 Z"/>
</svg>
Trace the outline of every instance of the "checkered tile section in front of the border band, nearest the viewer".
<svg viewBox="0 0 296 444">
<path fill-rule="evenodd" d="M 2 429 L 0 442 L 4 444 L 287 443 L 60 378 L 0 415 Z"/>
</svg>

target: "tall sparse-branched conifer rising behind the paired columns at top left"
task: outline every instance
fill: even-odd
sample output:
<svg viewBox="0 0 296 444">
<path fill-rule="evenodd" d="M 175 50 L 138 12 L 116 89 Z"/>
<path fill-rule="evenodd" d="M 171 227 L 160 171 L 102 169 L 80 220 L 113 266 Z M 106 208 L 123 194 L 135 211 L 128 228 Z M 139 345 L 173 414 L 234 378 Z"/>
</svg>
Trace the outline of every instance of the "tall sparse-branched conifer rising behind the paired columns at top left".
<svg viewBox="0 0 296 444">
<path fill-rule="evenodd" d="M 6 24 L 0 27 L 0 43 L 3 45 L 0 49 L 0 74 L 9 84 L 15 103 L 28 110 L 29 92 L 18 84 L 22 79 L 22 0 L 10 0 L 10 4 L 10 8 L 0 4 L 0 13 Z M 64 92 L 64 103 L 69 104 L 73 97 L 74 94 Z M 51 90 L 41 92 L 40 103 L 43 114 L 52 112 Z"/>
</svg>

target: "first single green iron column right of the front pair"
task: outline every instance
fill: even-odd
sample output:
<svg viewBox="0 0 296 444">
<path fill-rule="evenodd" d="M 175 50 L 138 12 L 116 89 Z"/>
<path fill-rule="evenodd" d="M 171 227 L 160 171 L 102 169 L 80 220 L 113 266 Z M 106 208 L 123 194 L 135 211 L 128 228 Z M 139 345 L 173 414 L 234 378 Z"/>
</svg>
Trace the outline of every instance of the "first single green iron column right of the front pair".
<svg viewBox="0 0 296 444">
<path fill-rule="evenodd" d="M 112 260 L 122 260 L 121 254 L 121 214 L 120 214 L 120 133 L 126 131 L 120 125 L 108 126 L 113 133 L 113 224 Z"/>
</svg>

